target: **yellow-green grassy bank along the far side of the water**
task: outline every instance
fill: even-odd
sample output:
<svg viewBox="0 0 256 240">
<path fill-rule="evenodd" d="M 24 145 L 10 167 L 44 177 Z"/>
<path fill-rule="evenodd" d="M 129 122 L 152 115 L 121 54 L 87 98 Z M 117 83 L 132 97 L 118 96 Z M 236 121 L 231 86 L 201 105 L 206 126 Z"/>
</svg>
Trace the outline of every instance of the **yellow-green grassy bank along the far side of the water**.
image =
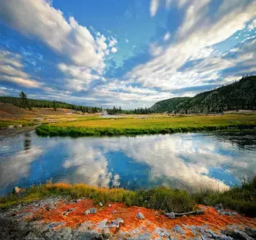
<svg viewBox="0 0 256 240">
<path fill-rule="evenodd" d="M 81 120 L 56 124 L 42 124 L 36 128 L 44 136 L 102 136 L 175 133 L 221 130 L 226 128 L 254 128 L 256 116 L 186 116 L 154 118 L 116 118 Z"/>
</svg>

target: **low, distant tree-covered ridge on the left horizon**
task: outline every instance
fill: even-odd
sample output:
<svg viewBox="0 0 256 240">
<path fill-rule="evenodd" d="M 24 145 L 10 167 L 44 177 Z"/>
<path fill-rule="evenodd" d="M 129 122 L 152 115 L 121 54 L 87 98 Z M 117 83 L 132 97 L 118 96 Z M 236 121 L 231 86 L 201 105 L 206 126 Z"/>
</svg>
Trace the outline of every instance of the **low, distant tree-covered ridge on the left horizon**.
<svg viewBox="0 0 256 240">
<path fill-rule="evenodd" d="M 89 112 L 89 113 L 100 112 L 102 110 L 97 107 L 86 107 L 82 105 L 74 105 L 70 103 L 64 103 L 62 101 L 36 100 L 31 98 L 27 98 L 26 101 L 28 101 L 27 107 L 29 108 L 51 107 L 51 108 L 61 108 L 61 109 L 72 109 L 72 110 Z M 22 102 L 20 98 L 13 97 L 13 96 L 0 96 L 0 103 L 11 103 L 12 105 L 15 105 L 17 107 L 22 107 Z"/>
</svg>

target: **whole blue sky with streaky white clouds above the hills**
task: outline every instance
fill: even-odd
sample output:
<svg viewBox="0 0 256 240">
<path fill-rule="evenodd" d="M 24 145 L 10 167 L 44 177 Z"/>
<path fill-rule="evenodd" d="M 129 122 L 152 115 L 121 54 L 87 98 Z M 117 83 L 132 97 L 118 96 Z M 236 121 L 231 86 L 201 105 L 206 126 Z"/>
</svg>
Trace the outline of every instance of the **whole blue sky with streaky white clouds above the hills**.
<svg viewBox="0 0 256 240">
<path fill-rule="evenodd" d="M 0 0 L 0 96 L 134 109 L 253 73 L 255 0 Z"/>
</svg>

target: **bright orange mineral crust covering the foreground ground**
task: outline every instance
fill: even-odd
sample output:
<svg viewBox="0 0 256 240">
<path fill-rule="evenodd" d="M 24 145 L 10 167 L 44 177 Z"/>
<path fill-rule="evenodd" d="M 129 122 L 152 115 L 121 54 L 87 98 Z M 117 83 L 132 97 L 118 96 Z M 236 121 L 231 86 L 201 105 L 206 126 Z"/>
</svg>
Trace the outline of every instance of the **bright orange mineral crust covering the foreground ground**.
<svg viewBox="0 0 256 240">
<path fill-rule="evenodd" d="M 110 205 L 109 205 L 110 204 Z M 97 208 L 96 213 L 85 214 L 84 212 L 93 207 Z M 205 226 L 214 232 L 220 234 L 220 230 L 224 230 L 228 225 L 236 225 L 237 229 L 246 227 L 255 228 L 256 220 L 248 218 L 240 214 L 227 216 L 218 213 L 213 207 L 198 206 L 198 209 L 205 209 L 205 214 L 195 216 L 181 216 L 175 219 L 169 219 L 165 216 L 164 211 L 156 211 L 154 209 L 146 209 L 145 207 L 127 207 L 122 203 L 108 203 L 104 206 L 93 204 L 91 199 L 83 199 L 78 202 L 67 202 L 60 200 L 55 207 L 41 207 L 34 209 L 31 218 L 40 218 L 45 223 L 61 222 L 61 227 L 70 227 L 77 229 L 82 223 L 89 223 L 88 230 L 102 231 L 99 229 L 100 223 L 106 223 L 109 226 L 111 221 L 121 218 L 124 223 L 120 223 L 119 227 L 108 227 L 109 233 L 118 236 L 122 233 L 140 234 L 149 233 L 152 237 L 159 237 L 159 232 L 168 230 L 180 236 L 182 239 L 189 239 L 195 236 L 195 232 L 191 229 L 196 226 Z M 30 209 L 29 209 L 30 210 Z M 144 220 L 138 219 L 137 214 L 142 213 Z M 182 228 L 176 230 L 177 225 Z M 192 228 L 191 228 L 192 227 Z M 56 227 L 58 229 L 60 227 Z M 174 235 L 173 235 L 174 236 Z"/>
</svg>

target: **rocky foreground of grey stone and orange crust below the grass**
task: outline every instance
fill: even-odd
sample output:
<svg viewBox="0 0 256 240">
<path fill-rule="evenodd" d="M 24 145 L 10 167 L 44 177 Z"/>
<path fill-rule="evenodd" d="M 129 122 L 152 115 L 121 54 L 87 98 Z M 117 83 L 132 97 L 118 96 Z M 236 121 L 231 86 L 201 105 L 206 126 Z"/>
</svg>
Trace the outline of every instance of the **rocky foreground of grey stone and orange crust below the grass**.
<svg viewBox="0 0 256 240">
<path fill-rule="evenodd" d="M 256 219 L 218 206 L 204 214 L 93 204 L 91 199 L 48 198 L 0 211 L 0 239 L 256 239 Z"/>
</svg>

